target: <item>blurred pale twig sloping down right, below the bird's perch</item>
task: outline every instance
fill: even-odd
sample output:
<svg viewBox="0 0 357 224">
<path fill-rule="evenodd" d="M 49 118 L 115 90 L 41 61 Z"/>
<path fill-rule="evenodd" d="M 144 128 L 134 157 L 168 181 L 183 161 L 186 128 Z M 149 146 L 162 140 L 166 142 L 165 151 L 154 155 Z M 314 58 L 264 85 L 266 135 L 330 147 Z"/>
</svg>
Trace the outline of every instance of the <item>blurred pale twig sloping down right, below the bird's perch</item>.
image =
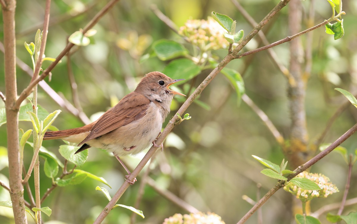
<svg viewBox="0 0 357 224">
<path fill-rule="evenodd" d="M 155 180 L 150 178 L 149 176 L 147 177 L 146 183 L 149 184 L 152 188 L 155 189 L 155 191 L 165 198 L 169 199 L 176 205 L 178 205 L 180 208 L 185 209 L 189 213 L 198 213 L 199 210 L 193 207 L 192 205 L 188 204 L 186 201 L 182 200 L 181 198 L 177 197 L 175 194 L 171 193 L 168 190 L 161 189 L 157 186 Z"/>
</svg>

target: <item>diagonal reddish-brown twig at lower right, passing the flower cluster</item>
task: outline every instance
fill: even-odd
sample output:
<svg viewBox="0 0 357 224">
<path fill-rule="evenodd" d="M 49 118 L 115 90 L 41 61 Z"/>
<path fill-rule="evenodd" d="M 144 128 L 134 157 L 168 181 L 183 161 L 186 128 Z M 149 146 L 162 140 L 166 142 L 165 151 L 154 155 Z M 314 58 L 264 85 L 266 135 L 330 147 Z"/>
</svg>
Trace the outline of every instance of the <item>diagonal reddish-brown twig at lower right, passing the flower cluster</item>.
<svg viewBox="0 0 357 224">
<path fill-rule="evenodd" d="M 307 161 L 305 164 L 299 166 L 296 168 L 294 171 L 296 173 L 290 174 L 287 176 L 287 181 L 290 181 L 292 178 L 294 178 L 296 175 L 301 173 L 302 171 L 305 171 L 307 168 L 315 164 L 317 161 L 325 157 L 328 153 L 330 153 L 333 149 L 335 149 L 337 146 L 341 145 L 346 139 L 348 139 L 353 133 L 357 131 L 357 124 L 355 124 L 352 128 L 350 128 L 348 131 L 346 131 L 345 134 L 341 135 L 340 138 L 338 138 L 335 142 L 333 142 L 330 146 L 328 146 L 325 150 L 323 150 L 321 153 L 317 154 L 315 157 Z M 260 206 L 262 206 L 265 201 L 267 201 L 277 190 L 282 188 L 284 186 L 285 181 L 279 181 L 266 195 L 263 196 L 262 199 L 260 199 L 256 205 L 253 206 L 243 217 L 240 221 L 238 221 L 237 224 L 243 224 L 245 221 L 247 221 L 252 214 L 257 211 Z"/>
</svg>

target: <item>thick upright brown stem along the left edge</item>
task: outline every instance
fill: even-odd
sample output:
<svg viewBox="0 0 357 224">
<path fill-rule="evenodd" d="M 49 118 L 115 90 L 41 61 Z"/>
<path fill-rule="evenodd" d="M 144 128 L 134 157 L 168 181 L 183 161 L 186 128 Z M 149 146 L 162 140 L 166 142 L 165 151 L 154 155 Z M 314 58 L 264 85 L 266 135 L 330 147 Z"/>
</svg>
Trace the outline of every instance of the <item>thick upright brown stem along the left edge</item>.
<svg viewBox="0 0 357 224">
<path fill-rule="evenodd" d="M 4 30 L 4 74 L 6 95 L 7 158 L 9 159 L 9 183 L 12 211 L 15 223 L 27 223 L 25 214 L 24 187 L 22 186 L 22 166 L 19 152 L 19 108 L 13 108 L 17 98 L 16 88 L 16 0 L 2 1 Z M 5 6 L 5 7 L 4 7 Z"/>
</svg>

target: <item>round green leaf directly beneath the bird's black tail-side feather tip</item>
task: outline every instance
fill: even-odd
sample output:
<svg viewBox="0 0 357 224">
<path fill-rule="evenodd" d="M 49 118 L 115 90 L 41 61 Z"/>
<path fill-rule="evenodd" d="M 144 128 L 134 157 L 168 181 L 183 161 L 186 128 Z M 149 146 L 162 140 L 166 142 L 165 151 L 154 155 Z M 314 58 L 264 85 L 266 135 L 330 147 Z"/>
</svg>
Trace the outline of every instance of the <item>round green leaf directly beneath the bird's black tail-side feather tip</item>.
<svg viewBox="0 0 357 224">
<path fill-rule="evenodd" d="M 60 154 L 77 166 L 82 166 L 88 157 L 88 150 L 81 151 L 80 153 L 74 154 L 79 149 L 78 146 L 74 145 L 60 145 Z"/>
</svg>

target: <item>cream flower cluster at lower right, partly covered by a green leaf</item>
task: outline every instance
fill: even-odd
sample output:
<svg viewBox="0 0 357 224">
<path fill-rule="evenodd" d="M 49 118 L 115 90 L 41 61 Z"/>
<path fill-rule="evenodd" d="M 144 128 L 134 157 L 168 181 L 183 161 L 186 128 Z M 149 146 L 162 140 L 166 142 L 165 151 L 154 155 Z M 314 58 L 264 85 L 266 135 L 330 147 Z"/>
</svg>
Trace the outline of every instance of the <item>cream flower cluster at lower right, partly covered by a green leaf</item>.
<svg viewBox="0 0 357 224">
<path fill-rule="evenodd" d="M 303 202 L 309 201 L 313 198 L 326 198 L 328 195 L 338 192 L 336 185 L 332 184 L 330 182 L 330 178 L 323 174 L 308 173 L 304 171 L 298 174 L 297 177 L 305 177 L 315 181 L 315 183 L 321 188 L 321 190 L 303 190 L 291 182 L 284 186 L 285 191 L 296 195 L 296 198 Z"/>
</svg>

